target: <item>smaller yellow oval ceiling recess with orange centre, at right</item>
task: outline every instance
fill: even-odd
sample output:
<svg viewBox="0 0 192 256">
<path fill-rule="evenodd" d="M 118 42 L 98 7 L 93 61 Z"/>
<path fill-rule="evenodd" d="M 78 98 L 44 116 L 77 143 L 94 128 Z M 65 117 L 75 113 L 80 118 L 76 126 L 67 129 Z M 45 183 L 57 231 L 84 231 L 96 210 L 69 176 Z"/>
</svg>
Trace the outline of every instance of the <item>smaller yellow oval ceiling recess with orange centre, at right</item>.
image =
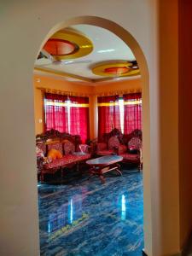
<svg viewBox="0 0 192 256">
<path fill-rule="evenodd" d="M 92 67 L 92 73 L 105 77 L 126 77 L 140 74 L 137 61 L 111 61 Z"/>
</svg>

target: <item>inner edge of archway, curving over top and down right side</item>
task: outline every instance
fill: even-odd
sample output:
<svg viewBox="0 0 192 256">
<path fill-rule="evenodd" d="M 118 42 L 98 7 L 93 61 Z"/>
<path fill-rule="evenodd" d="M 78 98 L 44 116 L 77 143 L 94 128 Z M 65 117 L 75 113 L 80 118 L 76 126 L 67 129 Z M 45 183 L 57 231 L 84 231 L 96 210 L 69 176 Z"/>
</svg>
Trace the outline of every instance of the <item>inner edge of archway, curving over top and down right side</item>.
<svg viewBox="0 0 192 256">
<path fill-rule="evenodd" d="M 151 222 L 151 216 L 150 216 L 150 186 L 149 186 L 149 180 L 150 180 L 150 173 L 149 173 L 149 165 L 150 165 L 150 159 L 149 159 L 149 84 L 148 84 L 148 67 L 147 62 L 145 60 L 145 57 L 143 55 L 143 51 L 135 38 L 131 36 L 131 34 L 127 31 L 125 31 L 124 28 L 117 25 L 113 21 L 102 19 L 99 17 L 79 17 L 74 18 L 71 20 L 67 20 L 66 22 L 60 23 L 56 25 L 54 28 L 51 29 L 49 34 L 44 39 L 44 43 L 50 38 L 52 34 L 55 32 L 73 25 L 78 24 L 86 24 L 86 25 L 92 25 L 92 26 L 100 26 L 102 28 L 107 29 L 110 32 L 113 32 L 116 36 L 121 38 L 125 44 L 127 44 L 134 55 L 136 56 L 138 66 L 141 70 L 141 79 L 142 79 L 142 92 L 143 92 L 143 187 L 144 187 L 144 223 L 148 223 L 148 229 L 144 228 L 144 234 L 145 234 L 145 246 L 150 247 L 151 243 L 151 237 L 150 237 L 150 222 Z M 41 46 L 41 48 L 42 48 Z M 40 49 L 41 49 L 40 48 Z M 96 125 L 96 124 L 95 124 Z M 125 198 L 122 197 L 122 201 L 124 201 Z M 72 207 L 70 208 L 72 210 Z M 55 233 L 56 234 L 56 233 Z"/>
</svg>

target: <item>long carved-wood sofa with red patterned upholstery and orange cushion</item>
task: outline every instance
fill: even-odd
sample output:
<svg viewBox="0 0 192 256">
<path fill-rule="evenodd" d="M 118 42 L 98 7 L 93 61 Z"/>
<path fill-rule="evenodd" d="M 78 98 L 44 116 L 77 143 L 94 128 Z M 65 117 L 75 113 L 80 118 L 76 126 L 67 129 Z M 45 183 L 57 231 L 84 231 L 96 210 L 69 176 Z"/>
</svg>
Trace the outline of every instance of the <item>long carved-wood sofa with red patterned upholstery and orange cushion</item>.
<svg viewBox="0 0 192 256">
<path fill-rule="evenodd" d="M 90 159 L 89 153 L 84 153 L 79 148 L 83 147 L 79 135 L 70 135 L 60 131 L 50 130 L 36 137 L 36 152 L 38 176 L 40 181 L 44 182 L 45 174 L 55 174 L 61 170 L 61 176 L 67 166 L 77 165 Z M 55 157 L 49 157 L 49 153 L 57 153 Z M 59 155 L 59 157 L 57 157 Z"/>
</svg>

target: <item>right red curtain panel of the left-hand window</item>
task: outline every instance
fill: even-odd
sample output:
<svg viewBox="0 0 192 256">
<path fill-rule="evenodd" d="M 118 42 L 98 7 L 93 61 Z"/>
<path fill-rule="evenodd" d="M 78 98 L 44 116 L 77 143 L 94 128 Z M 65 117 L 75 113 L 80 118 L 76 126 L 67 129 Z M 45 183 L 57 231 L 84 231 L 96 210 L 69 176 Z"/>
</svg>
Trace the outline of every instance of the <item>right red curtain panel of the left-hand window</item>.
<svg viewBox="0 0 192 256">
<path fill-rule="evenodd" d="M 69 96 L 72 103 L 70 108 L 70 133 L 79 134 L 82 143 L 90 138 L 90 116 L 89 116 L 89 98 Z"/>
</svg>

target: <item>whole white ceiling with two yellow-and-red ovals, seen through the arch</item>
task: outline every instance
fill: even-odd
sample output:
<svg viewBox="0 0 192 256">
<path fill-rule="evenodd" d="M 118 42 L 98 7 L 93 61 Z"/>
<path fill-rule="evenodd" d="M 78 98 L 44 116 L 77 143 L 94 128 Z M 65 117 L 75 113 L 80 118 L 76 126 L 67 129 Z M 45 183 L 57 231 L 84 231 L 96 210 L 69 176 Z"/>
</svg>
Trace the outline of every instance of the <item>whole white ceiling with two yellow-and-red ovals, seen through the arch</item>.
<svg viewBox="0 0 192 256">
<path fill-rule="evenodd" d="M 137 79 L 137 61 L 131 49 L 112 32 L 75 25 L 56 32 L 44 44 L 34 73 L 61 76 L 84 84 Z"/>
</svg>

